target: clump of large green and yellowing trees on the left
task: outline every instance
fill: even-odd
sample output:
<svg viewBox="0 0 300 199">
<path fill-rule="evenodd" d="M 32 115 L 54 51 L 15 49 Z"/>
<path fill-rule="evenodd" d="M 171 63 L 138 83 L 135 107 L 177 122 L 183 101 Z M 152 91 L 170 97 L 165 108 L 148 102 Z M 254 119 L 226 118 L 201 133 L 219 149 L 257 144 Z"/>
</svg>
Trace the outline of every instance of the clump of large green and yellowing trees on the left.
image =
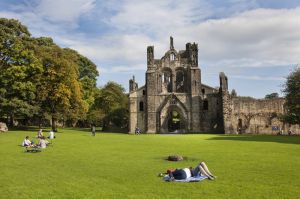
<svg viewBox="0 0 300 199">
<path fill-rule="evenodd" d="M 14 19 L 0 18 L 0 117 L 85 118 L 94 103 L 96 65 L 51 38 L 31 37 Z"/>
</svg>

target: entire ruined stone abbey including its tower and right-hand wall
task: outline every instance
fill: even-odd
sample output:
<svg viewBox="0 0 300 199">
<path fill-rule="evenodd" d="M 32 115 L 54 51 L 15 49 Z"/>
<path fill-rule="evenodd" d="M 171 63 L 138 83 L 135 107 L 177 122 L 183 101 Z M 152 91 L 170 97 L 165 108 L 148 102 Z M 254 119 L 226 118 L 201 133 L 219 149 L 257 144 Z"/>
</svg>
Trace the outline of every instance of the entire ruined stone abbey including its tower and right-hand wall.
<svg viewBox="0 0 300 199">
<path fill-rule="evenodd" d="M 187 43 L 177 51 L 170 37 L 170 49 L 154 58 L 154 46 L 147 47 L 146 84 L 129 80 L 129 133 L 138 127 L 143 133 L 277 133 L 299 126 L 283 124 L 284 99 L 258 100 L 231 96 L 228 78 L 221 72 L 220 87 L 201 82 L 198 45 Z"/>
</svg>

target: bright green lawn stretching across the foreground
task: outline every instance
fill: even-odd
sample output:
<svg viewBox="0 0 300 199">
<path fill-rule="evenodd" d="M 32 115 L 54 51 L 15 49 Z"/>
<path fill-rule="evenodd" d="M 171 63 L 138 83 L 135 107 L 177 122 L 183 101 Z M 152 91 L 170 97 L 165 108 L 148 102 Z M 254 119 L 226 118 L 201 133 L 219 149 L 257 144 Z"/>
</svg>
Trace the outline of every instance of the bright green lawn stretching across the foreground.
<svg viewBox="0 0 300 199">
<path fill-rule="evenodd" d="M 128 135 L 60 129 L 53 146 L 25 153 L 33 131 L 0 134 L 0 198 L 300 198 L 300 136 Z M 180 154 L 182 162 L 164 157 Z M 164 182 L 168 168 L 205 161 L 218 176 Z"/>
</svg>

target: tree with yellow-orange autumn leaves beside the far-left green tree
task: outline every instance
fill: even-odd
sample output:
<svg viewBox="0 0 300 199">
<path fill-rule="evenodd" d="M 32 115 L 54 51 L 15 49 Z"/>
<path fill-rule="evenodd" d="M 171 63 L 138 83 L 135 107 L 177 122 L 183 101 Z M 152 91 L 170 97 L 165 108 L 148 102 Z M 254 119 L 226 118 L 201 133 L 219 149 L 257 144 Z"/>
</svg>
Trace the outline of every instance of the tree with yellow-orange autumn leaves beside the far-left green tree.
<svg viewBox="0 0 300 199">
<path fill-rule="evenodd" d="M 52 117 L 52 129 L 58 119 L 77 120 L 87 112 L 79 82 L 76 57 L 55 45 L 50 38 L 37 39 L 36 53 L 44 67 L 38 96 L 42 111 Z"/>
</svg>

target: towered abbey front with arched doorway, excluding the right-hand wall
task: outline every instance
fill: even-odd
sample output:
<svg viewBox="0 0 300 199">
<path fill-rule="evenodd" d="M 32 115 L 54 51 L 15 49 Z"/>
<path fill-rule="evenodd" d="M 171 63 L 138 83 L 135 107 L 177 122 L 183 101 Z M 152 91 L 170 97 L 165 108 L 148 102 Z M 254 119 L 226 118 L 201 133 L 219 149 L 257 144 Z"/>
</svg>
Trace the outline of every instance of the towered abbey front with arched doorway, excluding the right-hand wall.
<svg viewBox="0 0 300 199">
<path fill-rule="evenodd" d="M 218 108 L 209 107 L 208 100 L 218 101 L 219 92 L 201 84 L 196 43 L 187 43 L 185 50 L 177 51 L 170 37 L 170 48 L 161 59 L 155 59 L 154 46 L 148 46 L 146 85 L 137 89 L 134 85 L 131 79 L 131 133 L 136 127 L 146 133 L 217 129 L 217 114 L 212 112 Z"/>
</svg>

